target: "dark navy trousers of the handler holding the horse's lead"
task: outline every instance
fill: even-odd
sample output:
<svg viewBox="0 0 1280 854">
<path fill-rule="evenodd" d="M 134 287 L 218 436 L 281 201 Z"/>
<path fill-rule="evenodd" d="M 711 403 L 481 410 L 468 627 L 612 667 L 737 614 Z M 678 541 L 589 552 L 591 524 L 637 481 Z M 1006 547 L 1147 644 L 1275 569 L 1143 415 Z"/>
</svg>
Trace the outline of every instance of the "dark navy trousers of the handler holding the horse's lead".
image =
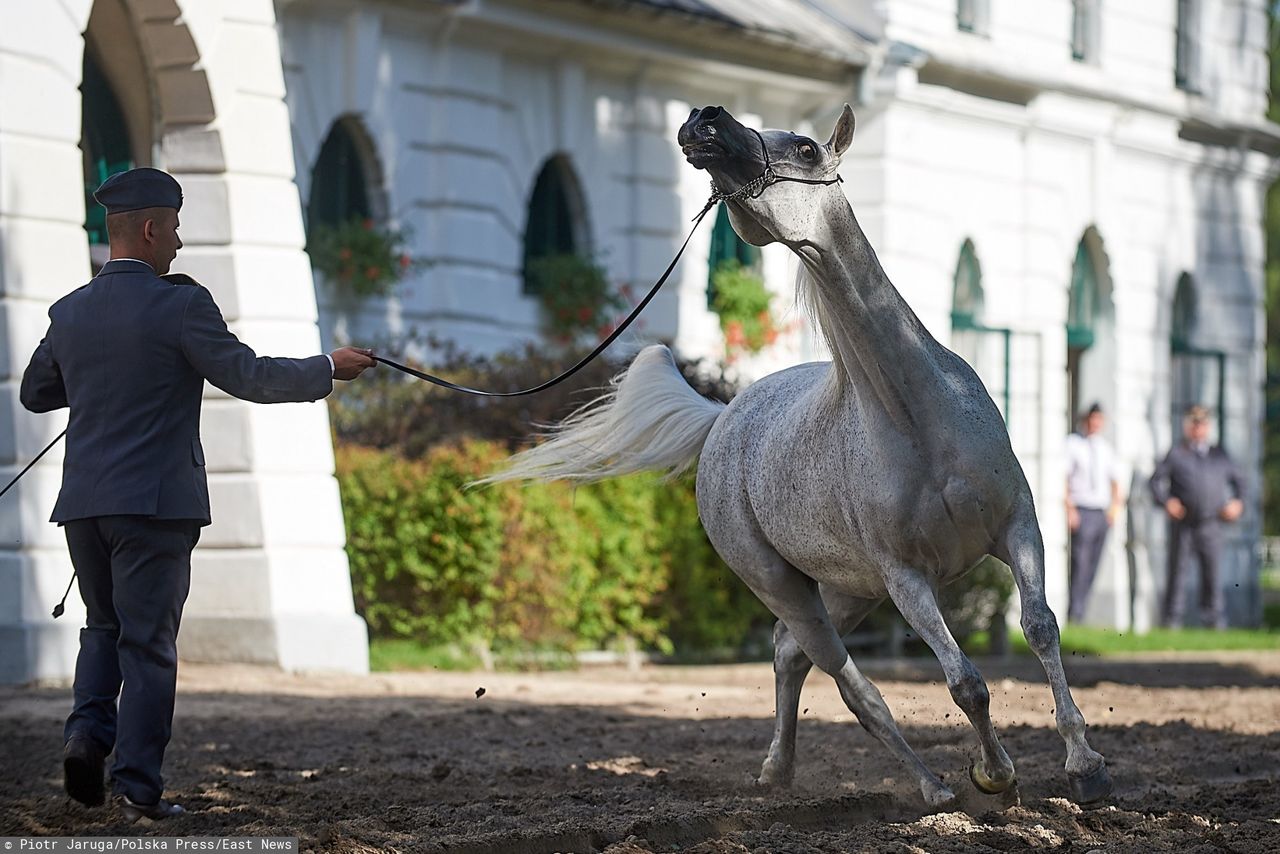
<svg viewBox="0 0 1280 854">
<path fill-rule="evenodd" d="M 178 624 L 200 524 L 99 516 L 67 522 L 65 531 L 87 620 L 63 736 L 86 735 L 104 754 L 114 748 L 115 794 L 154 804 L 164 791 Z"/>
</svg>

